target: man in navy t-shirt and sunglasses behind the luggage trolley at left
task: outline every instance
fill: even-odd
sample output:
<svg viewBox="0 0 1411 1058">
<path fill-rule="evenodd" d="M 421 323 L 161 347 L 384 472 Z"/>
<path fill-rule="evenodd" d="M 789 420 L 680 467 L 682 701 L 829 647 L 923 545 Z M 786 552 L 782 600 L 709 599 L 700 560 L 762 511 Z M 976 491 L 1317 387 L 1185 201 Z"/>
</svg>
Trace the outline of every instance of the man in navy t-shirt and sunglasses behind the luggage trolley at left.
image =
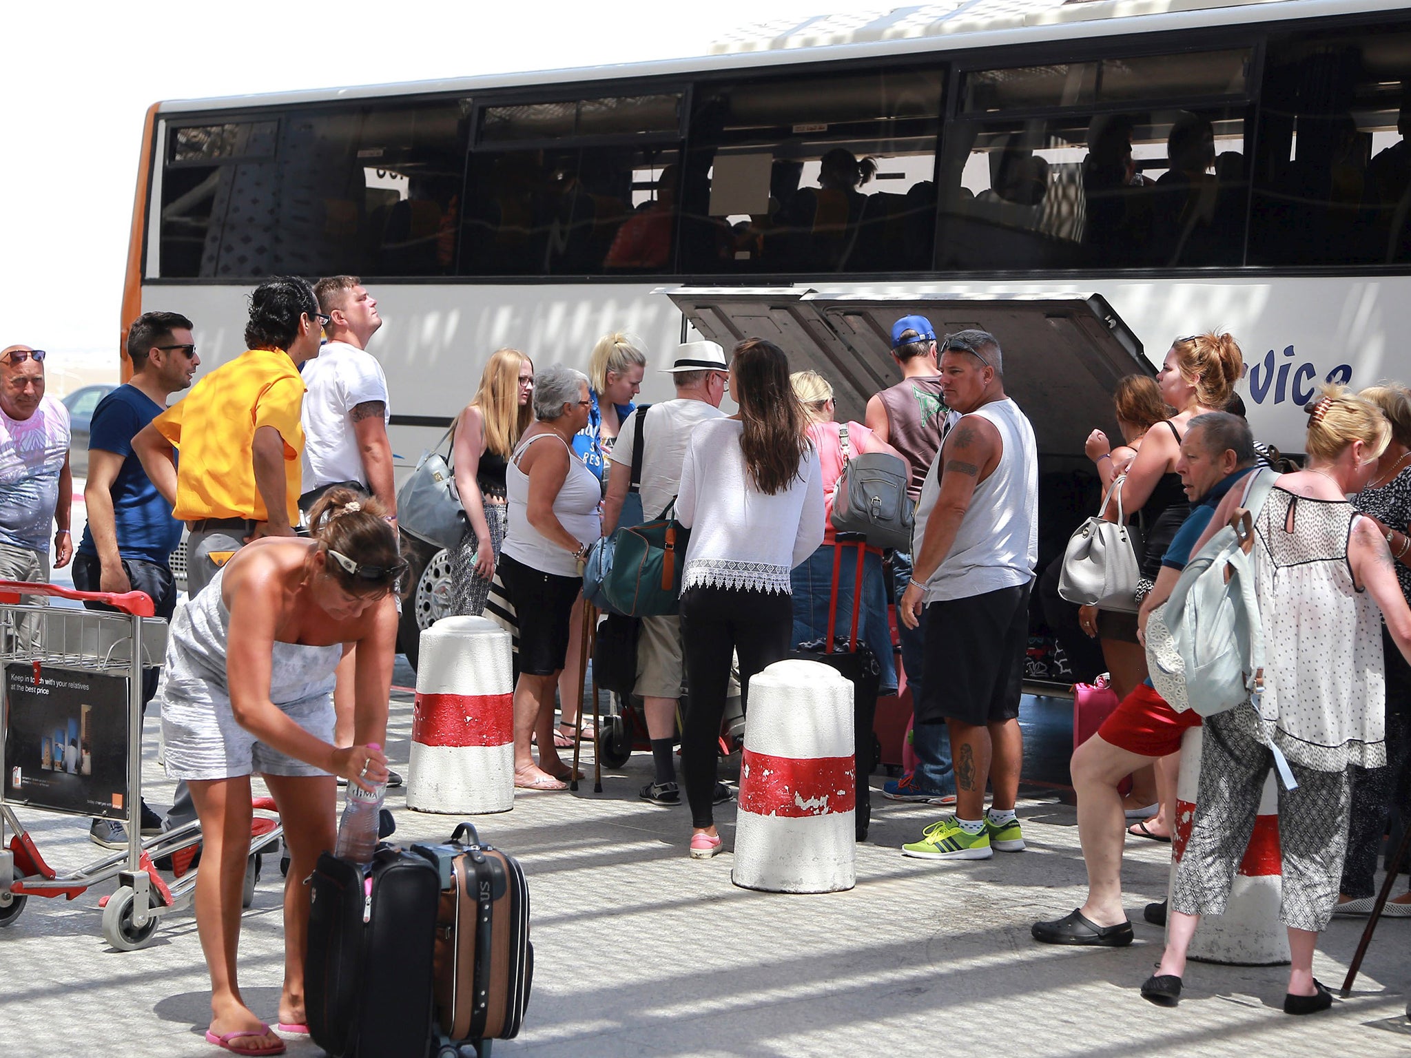
<svg viewBox="0 0 1411 1058">
<path fill-rule="evenodd" d="M 175 312 L 143 313 L 128 327 L 127 355 L 131 379 L 99 402 L 89 426 L 87 526 L 73 556 L 73 587 L 147 592 L 157 616 L 171 621 L 176 609 L 171 553 L 181 543 L 182 523 L 133 453 L 133 436 L 166 411 L 171 394 L 190 385 L 200 364 L 190 320 Z M 157 691 L 157 669 L 143 674 L 144 704 Z M 182 794 L 178 790 L 178 804 Z M 143 834 L 161 829 L 161 817 L 144 801 Z M 93 820 L 89 837 L 104 848 L 127 848 L 127 829 L 117 820 Z"/>
</svg>

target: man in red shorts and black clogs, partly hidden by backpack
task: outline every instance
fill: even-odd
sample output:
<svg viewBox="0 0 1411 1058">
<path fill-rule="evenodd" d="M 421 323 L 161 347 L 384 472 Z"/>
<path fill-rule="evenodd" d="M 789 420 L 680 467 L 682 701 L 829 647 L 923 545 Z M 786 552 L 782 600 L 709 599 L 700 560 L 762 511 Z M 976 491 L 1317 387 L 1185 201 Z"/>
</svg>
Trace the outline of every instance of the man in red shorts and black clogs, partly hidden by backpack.
<svg viewBox="0 0 1411 1058">
<path fill-rule="evenodd" d="M 1191 419 L 1181 440 L 1175 464 L 1191 499 L 1191 513 L 1171 539 L 1161 559 L 1156 587 L 1141 604 L 1137 622 L 1171 597 L 1191 547 L 1205 532 L 1225 494 L 1253 470 L 1254 437 L 1249 423 L 1228 412 L 1208 412 Z M 1033 935 L 1044 944 L 1077 944 L 1120 948 L 1132 944 L 1132 924 L 1122 908 L 1122 845 L 1126 817 L 1118 784 L 1151 760 L 1181 752 L 1185 729 L 1201 722 L 1195 710 L 1177 712 L 1156 693 L 1151 681 L 1133 690 L 1098 734 L 1072 755 L 1072 786 L 1078 793 L 1078 839 L 1088 865 L 1088 900 L 1062 918 L 1034 923 Z M 1161 769 L 1170 786 L 1174 762 Z M 1173 804 L 1174 790 L 1163 790 L 1163 803 Z M 1153 906 L 1153 913 L 1164 908 Z"/>
</svg>

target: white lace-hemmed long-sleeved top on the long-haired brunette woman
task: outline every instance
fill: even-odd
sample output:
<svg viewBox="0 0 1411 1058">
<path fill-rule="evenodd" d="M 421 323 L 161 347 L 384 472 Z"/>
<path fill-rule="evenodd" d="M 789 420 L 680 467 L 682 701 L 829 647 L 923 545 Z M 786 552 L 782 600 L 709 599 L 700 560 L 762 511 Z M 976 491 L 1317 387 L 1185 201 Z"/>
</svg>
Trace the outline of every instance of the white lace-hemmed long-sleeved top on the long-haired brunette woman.
<svg viewBox="0 0 1411 1058">
<path fill-rule="evenodd" d="M 790 594 L 789 571 L 823 543 L 823 471 L 810 446 L 799 477 L 775 495 L 755 488 L 737 419 L 691 429 L 676 516 L 691 530 L 682 588 Z"/>
</svg>

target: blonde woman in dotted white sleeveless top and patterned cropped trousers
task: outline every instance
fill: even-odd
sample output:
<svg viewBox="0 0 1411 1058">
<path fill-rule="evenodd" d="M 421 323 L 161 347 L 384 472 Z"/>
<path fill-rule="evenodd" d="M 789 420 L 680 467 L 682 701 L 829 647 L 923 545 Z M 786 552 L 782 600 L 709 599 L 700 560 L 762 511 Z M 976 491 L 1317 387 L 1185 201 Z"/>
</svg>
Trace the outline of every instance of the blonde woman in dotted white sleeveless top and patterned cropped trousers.
<svg viewBox="0 0 1411 1058">
<path fill-rule="evenodd" d="M 1376 474 L 1391 426 L 1380 408 L 1342 387 L 1326 387 L 1304 411 L 1308 464 L 1274 478 L 1254 518 L 1250 557 L 1264 633 L 1264 691 L 1257 703 L 1205 717 L 1198 807 L 1175 866 L 1165 954 L 1141 986 L 1143 997 L 1163 1006 L 1180 999 L 1199 917 L 1225 913 L 1278 756 L 1294 779 L 1278 783 L 1280 918 L 1292 963 L 1284 1013 L 1332 1006 L 1332 993 L 1314 980 L 1312 959 L 1338 899 L 1350 770 L 1386 763 L 1379 609 L 1407 659 L 1411 609 L 1386 536 L 1348 502 Z M 1243 488 L 1229 491 L 1194 550 L 1229 523 L 1243 498 Z"/>
</svg>

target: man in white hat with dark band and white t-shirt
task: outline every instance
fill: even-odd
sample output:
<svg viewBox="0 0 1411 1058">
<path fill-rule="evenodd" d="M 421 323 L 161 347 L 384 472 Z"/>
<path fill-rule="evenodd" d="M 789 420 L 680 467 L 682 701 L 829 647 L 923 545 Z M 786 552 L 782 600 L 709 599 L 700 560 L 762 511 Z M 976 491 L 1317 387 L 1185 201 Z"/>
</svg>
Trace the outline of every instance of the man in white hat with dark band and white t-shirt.
<svg viewBox="0 0 1411 1058">
<path fill-rule="evenodd" d="M 691 443 L 691 430 L 707 419 L 720 419 L 720 402 L 729 388 L 725 350 L 714 341 L 687 341 L 676 348 L 676 361 L 666 368 L 676 377 L 676 399 L 646 405 L 632 412 L 618 430 L 612 461 L 619 464 L 608 477 L 608 495 L 602 505 L 602 535 L 618 528 L 622 504 L 631 488 L 632 456 L 638 429 L 642 437 L 642 478 L 638 494 L 642 516 L 656 519 L 667 508 L 682 484 L 682 464 Z M 674 615 L 642 618 L 636 647 L 636 694 L 643 698 L 646 731 L 652 739 L 653 782 L 642 787 L 642 798 L 653 804 L 680 804 L 672 741 L 676 734 L 676 707 L 682 697 L 684 674 L 682 619 Z M 727 800 L 729 790 L 717 784 L 717 800 Z"/>
</svg>

